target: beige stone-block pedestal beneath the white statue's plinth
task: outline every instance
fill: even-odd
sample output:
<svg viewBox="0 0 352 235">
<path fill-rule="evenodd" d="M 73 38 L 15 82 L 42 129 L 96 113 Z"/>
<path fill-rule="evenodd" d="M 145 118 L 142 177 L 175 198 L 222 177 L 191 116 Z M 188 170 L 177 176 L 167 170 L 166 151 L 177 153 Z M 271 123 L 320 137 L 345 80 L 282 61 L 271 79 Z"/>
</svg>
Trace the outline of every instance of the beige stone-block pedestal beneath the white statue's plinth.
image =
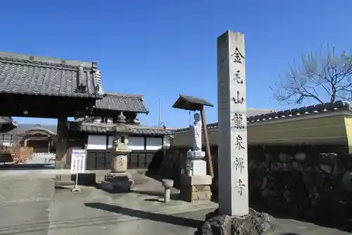
<svg viewBox="0 0 352 235">
<path fill-rule="evenodd" d="M 198 200 L 211 199 L 211 176 L 188 176 L 187 174 L 182 174 L 180 182 L 180 198 L 182 198 L 182 200 L 193 203 Z"/>
</svg>

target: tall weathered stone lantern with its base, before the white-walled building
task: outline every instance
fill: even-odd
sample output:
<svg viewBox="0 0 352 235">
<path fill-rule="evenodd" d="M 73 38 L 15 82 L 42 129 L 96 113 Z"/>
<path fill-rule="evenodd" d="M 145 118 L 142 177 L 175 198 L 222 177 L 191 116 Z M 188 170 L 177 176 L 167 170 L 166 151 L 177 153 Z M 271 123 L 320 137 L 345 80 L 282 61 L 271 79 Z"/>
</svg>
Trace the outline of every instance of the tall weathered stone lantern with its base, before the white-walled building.
<svg viewBox="0 0 352 235">
<path fill-rule="evenodd" d="M 131 191 L 134 180 L 127 173 L 128 155 L 131 149 L 128 147 L 128 135 L 133 131 L 132 127 L 125 124 L 126 117 L 122 114 L 118 116 L 117 124 L 114 126 L 116 133 L 112 151 L 111 172 L 106 174 L 105 181 L 101 182 L 103 189 L 115 193 Z"/>
</svg>

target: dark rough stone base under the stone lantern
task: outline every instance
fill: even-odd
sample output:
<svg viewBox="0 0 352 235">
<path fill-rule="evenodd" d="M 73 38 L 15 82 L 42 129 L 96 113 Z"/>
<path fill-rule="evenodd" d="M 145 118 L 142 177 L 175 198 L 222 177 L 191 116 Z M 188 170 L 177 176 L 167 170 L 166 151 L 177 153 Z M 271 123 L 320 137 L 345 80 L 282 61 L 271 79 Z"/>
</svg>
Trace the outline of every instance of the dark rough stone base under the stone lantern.
<svg viewBox="0 0 352 235">
<path fill-rule="evenodd" d="M 108 173 L 101 189 L 111 193 L 128 193 L 132 190 L 134 180 L 127 173 Z"/>
</svg>

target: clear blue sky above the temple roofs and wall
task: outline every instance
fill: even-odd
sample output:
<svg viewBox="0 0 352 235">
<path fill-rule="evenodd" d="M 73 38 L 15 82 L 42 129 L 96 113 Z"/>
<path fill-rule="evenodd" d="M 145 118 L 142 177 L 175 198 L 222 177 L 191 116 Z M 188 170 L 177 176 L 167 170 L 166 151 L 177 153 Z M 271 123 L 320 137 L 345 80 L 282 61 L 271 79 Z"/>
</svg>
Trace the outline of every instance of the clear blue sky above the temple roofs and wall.
<svg viewBox="0 0 352 235">
<path fill-rule="evenodd" d="M 98 61 L 108 92 L 142 94 L 158 124 L 187 126 L 172 109 L 179 94 L 217 103 L 216 39 L 227 29 L 246 37 L 248 107 L 287 109 L 269 86 L 287 63 L 322 44 L 351 49 L 352 1 L 4 1 L 0 50 Z M 206 109 L 217 121 L 217 107 Z M 16 119 L 56 123 L 51 119 Z"/>
</svg>

